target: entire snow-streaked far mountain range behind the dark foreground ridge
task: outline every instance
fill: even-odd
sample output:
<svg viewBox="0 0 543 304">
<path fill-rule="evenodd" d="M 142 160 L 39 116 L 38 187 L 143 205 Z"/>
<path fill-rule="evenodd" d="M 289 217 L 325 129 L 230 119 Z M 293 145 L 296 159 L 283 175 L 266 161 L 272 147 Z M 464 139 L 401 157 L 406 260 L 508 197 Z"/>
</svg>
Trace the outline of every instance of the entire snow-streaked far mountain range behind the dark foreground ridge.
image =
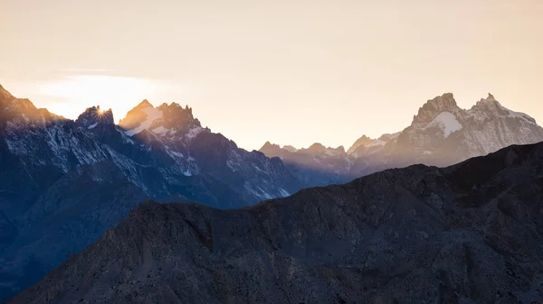
<svg viewBox="0 0 543 304">
<path fill-rule="evenodd" d="M 386 168 L 452 164 L 539 141 L 543 130 L 529 115 L 491 96 L 462 110 L 445 94 L 404 131 L 363 136 L 347 152 L 318 143 L 247 152 L 188 106 L 144 100 L 118 124 L 111 110 L 93 106 L 71 120 L 0 86 L 0 300 L 97 241 L 142 201 L 250 207 Z"/>
</svg>

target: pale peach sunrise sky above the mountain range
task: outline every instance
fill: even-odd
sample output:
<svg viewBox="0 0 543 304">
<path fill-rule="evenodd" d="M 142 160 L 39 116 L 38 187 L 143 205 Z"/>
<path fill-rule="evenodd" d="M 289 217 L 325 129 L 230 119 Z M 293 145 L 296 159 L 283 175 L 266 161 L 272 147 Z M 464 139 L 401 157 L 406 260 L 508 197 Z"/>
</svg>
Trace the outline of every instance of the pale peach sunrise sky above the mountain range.
<svg viewBox="0 0 543 304">
<path fill-rule="evenodd" d="M 0 84 L 75 118 L 177 102 L 239 146 L 346 149 L 430 98 L 543 122 L 543 1 L 0 0 Z"/>
</svg>

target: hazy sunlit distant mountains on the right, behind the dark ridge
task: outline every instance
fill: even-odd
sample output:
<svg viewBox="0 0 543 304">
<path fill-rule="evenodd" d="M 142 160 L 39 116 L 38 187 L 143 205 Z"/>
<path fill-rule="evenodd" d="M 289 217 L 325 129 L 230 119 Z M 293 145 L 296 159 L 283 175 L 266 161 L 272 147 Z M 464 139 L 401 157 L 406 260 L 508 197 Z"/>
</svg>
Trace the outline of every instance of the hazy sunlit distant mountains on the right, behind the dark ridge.
<svg viewBox="0 0 543 304">
<path fill-rule="evenodd" d="M 330 180 L 352 180 L 414 163 L 450 165 L 511 144 L 540 141 L 543 129 L 533 118 L 501 106 L 491 94 L 464 110 L 447 93 L 424 104 L 403 131 L 378 139 L 363 135 L 347 153 L 330 153 L 333 149 L 327 153 L 285 149 L 271 143 L 264 144 L 260 151 L 280 157 L 300 180 L 322 186 Z"/>
</svg>

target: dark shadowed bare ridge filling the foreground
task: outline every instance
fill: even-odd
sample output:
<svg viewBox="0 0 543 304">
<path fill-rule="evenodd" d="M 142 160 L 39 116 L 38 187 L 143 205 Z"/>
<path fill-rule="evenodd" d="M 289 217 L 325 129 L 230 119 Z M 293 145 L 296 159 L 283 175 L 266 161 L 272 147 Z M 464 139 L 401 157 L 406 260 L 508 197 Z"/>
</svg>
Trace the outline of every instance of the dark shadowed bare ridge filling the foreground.
<svg viewBox="0 0 543 304">
<path fill-rule="evenodd" d="M 144 203 L 8 303 L 532 303 L 543 143 L 239 210 Z"/>
</svg>

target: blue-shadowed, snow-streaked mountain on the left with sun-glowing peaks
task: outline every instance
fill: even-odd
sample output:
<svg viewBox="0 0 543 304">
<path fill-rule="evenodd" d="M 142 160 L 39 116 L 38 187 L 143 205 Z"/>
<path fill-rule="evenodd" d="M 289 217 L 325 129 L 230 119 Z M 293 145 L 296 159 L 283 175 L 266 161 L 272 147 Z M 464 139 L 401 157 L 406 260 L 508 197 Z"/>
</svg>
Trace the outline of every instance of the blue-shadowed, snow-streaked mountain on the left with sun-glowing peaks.
<svg viewBox="0 0 543 304">
<path fill-rule="evenodd" d="M 119 125 L 96 106 L 72 121 L 2 87 L 0 170 L 0 300 L 143 200 L 231 208 L 301 188 L 281 160 L 212 133 L 188 106 L 144 101 Z"/>
</svg>

